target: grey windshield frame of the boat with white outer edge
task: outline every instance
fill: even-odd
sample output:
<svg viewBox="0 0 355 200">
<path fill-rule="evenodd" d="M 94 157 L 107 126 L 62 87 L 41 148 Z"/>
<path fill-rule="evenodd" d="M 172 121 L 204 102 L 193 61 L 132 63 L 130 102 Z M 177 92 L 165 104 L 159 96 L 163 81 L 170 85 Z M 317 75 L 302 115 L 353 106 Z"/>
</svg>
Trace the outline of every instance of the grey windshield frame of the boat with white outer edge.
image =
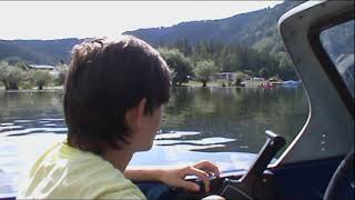
<svg viewBox="0 0 355 200">
<path fill-rule="evenodd" d="M 324 58 L 329 59 L 320 41 L 321 28 L 335 26 L 335 19 L 338 23 L 346 21 L 339 16 L 349 11 L 354 12 L 354 1 L 307 1 L 287 11 L 278 20 L 282 40 L 306 90 L 310 117 L 276 166 L 342 157 L 354 148 L 353 111 L 349 104 L 344 103 L 338 87 L 335 87 L 334 80 L 324 70 L 322 58 L 314 50 L 317 48 L 323 51 Z M 310 38 L 312 32 L 317 33 L 315 38 Z M 315 43 L 318 40 L 318 46 L 311 46 L 310 40 L 315 40 L 312 41 Z M 333 62 L 328 63 L 331 68 Z M 338 72 L 333 72 L 345 86 Z"/>
</svg>

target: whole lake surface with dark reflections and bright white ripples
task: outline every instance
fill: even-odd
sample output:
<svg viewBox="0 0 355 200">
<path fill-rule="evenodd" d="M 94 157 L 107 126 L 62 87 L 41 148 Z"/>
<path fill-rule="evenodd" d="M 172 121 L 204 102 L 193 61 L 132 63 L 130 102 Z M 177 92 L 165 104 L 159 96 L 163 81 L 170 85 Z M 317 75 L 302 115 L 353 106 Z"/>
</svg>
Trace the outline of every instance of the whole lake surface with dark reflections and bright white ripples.
<svg viewBox="0 0 355 200">
<path fill-rule="evenodd" d="M 61 91 L 0 92 L 0 197 L 14 196 L 36 158 L 65 138 L 61 98 Z M 206 159 L 222 171 L 245 170 L 265 142 L 265 130 L 288 144 L 307 116 L 302 87 L 173 88 L 152 150 L 136 153 L 131 164 Z"/>
</svg>

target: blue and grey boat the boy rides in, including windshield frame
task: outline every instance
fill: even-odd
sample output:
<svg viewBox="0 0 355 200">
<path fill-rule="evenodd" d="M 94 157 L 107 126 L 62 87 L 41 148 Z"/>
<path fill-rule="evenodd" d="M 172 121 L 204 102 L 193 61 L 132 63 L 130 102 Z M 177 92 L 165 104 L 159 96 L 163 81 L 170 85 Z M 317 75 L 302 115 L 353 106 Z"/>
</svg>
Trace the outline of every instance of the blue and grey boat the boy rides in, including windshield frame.
<svg viewBox="0 0 355 200">
<path fill-rule="evenodd" d="M 286 139 L 277 132 L 266 130 L 265 144 L 248 169 L 211 177 L 210 192 L 189 192 L 161 182 L 138 184 L 156 199 L 202 199 L 211 194 L 233 200 L 354 199 L 354 78 L 342 76 L 352 69 L 354 59 L 338 70 L 320 39 L 324 31 L 347 22 L 354 24 L 354 1 L 306 1 L 278 21 L 310 107 L 307 121 L 290 146 L 284 147 Z M 352 30 L 354 36 L 354 27 Z M 349 48 L 354 53 L 354 47 Z M 281 157 L 274 159 L 283 148 Z M 189 180 L 203 188 L 201 180 Z"/>
</svg>

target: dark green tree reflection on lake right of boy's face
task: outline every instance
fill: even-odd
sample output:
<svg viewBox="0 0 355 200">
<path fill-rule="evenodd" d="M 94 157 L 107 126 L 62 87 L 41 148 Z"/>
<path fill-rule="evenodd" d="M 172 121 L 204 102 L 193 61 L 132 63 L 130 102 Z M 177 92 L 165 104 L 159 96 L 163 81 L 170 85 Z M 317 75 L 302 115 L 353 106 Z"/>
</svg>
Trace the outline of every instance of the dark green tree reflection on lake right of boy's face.
<svg viewBox="0 0 355 200">
<path fill-rule="evenodd" d="M 176 88 L 165 107 L 163 131 L 196 131 L 203 138 L 233 138 L 223 148 L 207 151 L 257 152 L 264 131 L 273 130 L 291 142 L 307 118 L 307 102 L 300 88 Z"/>
</svg>

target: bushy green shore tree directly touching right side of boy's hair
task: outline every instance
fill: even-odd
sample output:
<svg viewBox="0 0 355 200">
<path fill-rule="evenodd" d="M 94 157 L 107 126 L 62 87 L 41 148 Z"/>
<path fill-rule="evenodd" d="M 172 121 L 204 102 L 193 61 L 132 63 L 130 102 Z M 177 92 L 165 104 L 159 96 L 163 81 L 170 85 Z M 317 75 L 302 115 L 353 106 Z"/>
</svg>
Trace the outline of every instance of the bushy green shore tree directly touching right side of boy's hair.
<svg viewBox="0 0 355 200">
<path fill-rule="evenodd" d="M 181 86 L 187 82 L 189 76 L 192 74 L 191 61 L 178 49 L 159 48 L 158 50 L 173 71 L 172 83 Z"/>
</svg>

